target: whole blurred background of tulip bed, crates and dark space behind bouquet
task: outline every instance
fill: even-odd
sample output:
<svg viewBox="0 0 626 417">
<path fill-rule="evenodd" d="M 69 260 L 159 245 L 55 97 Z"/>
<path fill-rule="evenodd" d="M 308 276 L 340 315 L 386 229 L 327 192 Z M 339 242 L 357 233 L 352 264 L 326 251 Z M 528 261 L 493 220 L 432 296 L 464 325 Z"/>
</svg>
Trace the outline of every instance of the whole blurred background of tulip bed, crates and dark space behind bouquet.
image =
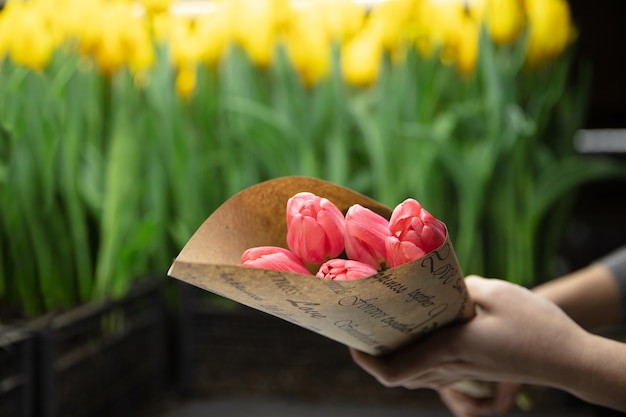
<svg viewBox="0 0 626 417">
<path fill-rule="evenodd" d="M 580 0 L 4 2 L 0 417 L 222 399 L 446 415 L 168 267 L 230 197 L 294 175 L 415 198 L 464 273 L 527 287 L 623 245 L 622 16 Z M 607 412 L 528 398 L 537 415 Z"/>
</svg>

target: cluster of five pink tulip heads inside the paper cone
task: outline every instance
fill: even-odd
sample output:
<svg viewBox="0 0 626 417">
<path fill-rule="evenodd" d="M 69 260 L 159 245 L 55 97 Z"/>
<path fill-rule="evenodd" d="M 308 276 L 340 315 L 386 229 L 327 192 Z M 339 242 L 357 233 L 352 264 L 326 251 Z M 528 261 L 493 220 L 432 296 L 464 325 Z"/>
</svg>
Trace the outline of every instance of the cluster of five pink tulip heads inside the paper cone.
<svg viewBox="0 0 626 417">
<path fill-rule="evenodd" d="M 345 216 L 311 192 L 287 201 L 287 246 L 258 246 L 241 256 L 243 266 L 350 281 L 419 259 L 440 247 L 446 228 L 416 200 L 398 204 L 389 220 L 354 204 Z M 343 255 L 343 256 L 342 256 Z"/>
</svg>

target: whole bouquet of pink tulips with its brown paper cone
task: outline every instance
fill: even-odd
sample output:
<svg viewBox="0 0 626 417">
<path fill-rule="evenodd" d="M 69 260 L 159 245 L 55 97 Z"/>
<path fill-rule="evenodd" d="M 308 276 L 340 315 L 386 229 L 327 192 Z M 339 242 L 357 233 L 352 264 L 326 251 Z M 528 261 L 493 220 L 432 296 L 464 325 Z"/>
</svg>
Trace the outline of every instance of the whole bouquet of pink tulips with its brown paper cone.
<svg viewBox="0 0 626 417">
<path fill-rule="evenodd" d="M 308 177 L 229 198 L 168 275 L 373 355 L 474 314 L 447 228 L 420 203 Z"/>
</svg>

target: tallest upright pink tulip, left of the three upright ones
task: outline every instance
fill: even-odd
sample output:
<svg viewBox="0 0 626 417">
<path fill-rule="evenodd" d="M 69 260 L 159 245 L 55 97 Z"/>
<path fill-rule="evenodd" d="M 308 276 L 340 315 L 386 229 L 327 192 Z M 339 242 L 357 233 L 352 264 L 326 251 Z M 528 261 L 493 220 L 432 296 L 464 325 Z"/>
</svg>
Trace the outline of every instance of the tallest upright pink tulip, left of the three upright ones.
<svg viewBox="0 0 626 417">
<path fill-rule="evenodd" d="M 322 263 L 344 249 L 344 217 L 326 198 L 309 192 L 287 202 L 287 245 L 304 262 Z"/>
</svg>

